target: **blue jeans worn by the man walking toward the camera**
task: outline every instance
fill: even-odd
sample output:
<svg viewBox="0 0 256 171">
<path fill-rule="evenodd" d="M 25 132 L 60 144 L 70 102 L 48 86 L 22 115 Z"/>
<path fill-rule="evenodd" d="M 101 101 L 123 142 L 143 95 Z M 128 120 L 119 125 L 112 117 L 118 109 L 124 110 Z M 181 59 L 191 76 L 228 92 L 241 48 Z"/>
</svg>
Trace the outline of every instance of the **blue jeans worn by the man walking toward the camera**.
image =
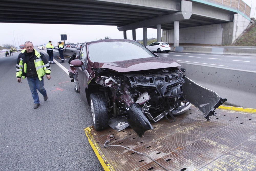
<svg viewBox="0 0 256 171">
<path fill-rule="evenodd" d="M 42 77 L 42 80 L 40 81 L 38 77 L 27 77 L 28 78 L 28 85 L 32 94 L 32 97 L 34 99 L 34 103 L 39 103 L 39 97 L 37 94 L 36 89 L 45 96 L 46 90 L 44 88 L 44 78 Z"/>
</svg>

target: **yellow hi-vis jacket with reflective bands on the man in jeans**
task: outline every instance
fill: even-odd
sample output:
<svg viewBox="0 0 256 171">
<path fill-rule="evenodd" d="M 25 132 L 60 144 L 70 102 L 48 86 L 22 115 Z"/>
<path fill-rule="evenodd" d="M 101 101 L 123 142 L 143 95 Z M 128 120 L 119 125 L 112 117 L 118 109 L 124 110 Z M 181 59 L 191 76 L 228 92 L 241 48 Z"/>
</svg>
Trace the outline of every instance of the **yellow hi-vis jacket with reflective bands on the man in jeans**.
<svg viewBox="0 0 256 171">
<path fill-rule="evenodd" d="M 50 64 L 48 63 L 47 59 L 45 59 L 46 64 L 44 64 L 40 53 L 38 53 L 35 49 L 34 49 L 34 51 L 35 51 L 35 55 L 36 55 L 36 59 L 34 59 L 36 72 L 37 72 L 39 80 L 41 81 L 42 76 L 44 76 L 45 74 L 51 73 L 51 67 L 50 67 Z M 22 79 L 24 79 L 25 73 L 27 73 L 27 64 L 23 63 L 23 58 L 25 58 L 25 55 L 24 55 L 25 49 L 20 52 L 22 53 L 22 55 L 20 55 L 20 58 L 18 58 L 18 60 L 17 60 L 16 77 L 22 77 Z"/>
</svg>

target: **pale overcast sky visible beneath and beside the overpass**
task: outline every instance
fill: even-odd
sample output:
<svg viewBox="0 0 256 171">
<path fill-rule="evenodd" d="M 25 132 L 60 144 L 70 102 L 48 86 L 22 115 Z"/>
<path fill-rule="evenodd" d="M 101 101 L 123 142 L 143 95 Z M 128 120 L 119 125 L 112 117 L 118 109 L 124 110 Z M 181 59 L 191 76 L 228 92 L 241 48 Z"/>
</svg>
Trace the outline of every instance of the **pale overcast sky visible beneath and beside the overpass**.
<svg viewBox="0 0 256 171">
<path fill-rule="evenodd" d="M 254 15 L 256 0 L 243 0 L 249 6 L 252 4 L 251 17 Z M 256 13 L 255 13 L 256 15 Z M 162 32 L 161 32 L 162 33 Z M 61 34 L 67 34 L 67 42 L 81 43 L 104 39 L 123 39 L 123 32 L 116 26 L 93 25 L 62 25 L 62 24 L 17 24 L 1 23 L 0 45 L 13 44 L 19 46 L 25 41 L 31 41 L 34 45 L 46 44 L 49 40 L 54 45 L 60 41 Z M 156 38 L 156 29 L 147 29 L 147 38 Z M 132 30 L 127 31 L 127 39 L 132 39 Z M 143 39 L 143 28 L 136 29 L 136 39 Z"/>
</svg>

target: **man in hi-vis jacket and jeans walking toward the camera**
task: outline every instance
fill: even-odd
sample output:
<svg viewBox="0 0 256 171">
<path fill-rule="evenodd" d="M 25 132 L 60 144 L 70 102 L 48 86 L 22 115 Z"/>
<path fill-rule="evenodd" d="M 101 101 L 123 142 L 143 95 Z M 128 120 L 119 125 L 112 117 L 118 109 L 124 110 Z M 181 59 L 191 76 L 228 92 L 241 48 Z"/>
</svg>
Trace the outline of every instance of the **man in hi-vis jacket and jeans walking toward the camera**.
<svg viewBox="0 0 256 171">
<path fill-rule="evenodd" d="M 50 79 L 51 67 L 45 58 L 44 54 L 38 53 L 32 42 L 25 42 L 25 49 L 18 56 L 16 64 L 16 77 L 18 83 L 21 83 L 21 78 L 28 78 L 28 85 L 34 99 L 34 109 L 38 108 L 39 97 L 36 89 L 44 96 L 44 100 L 48 99 L 44 88 L 44 75 Z"/>
</svg>

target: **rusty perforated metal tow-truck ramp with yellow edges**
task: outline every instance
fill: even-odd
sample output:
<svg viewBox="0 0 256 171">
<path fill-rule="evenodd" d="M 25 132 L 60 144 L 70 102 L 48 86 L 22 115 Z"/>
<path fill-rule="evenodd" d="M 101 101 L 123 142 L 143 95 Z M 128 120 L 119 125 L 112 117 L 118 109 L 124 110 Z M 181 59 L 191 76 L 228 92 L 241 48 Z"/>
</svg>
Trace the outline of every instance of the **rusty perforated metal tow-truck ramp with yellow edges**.
<svg viewBox="0 0 256 171">
<path fill-rule="evenodd" d="M 109 145 L 149 155 L 169 170 L 256 170 L 256 114 L 221 109 L 215 113 L 207 121 L 201 111 L 191 107 L 176 122 L 161 119 L 152 123 L 154 129 L 142 138 L 130 127 L 120 132 L 93 127 L 84 131 L 104 170 L 164 170 L 122 147 L 104 148 L 108 134 L 115 137 Z"/>
</svg>

